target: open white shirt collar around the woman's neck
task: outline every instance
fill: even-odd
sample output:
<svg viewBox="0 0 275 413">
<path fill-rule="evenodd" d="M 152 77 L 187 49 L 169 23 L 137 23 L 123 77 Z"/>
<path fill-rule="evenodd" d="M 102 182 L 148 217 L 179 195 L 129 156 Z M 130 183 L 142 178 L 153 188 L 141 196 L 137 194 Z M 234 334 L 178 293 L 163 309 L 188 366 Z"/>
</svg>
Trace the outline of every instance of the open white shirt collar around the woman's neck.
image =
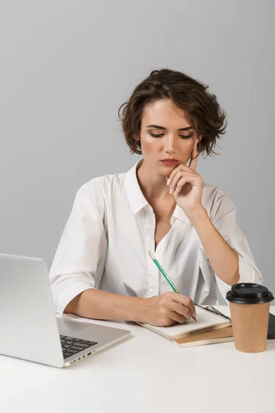
<svg viewBox="0 0 275 413">
<path fill-rule="evenodd" d="M 138 160 L 135 165 L 125 173 L 124 177 L 126 195 L 134 214 L 139 212 L 142 208 L 146 207 L 146 205 L 148 205 L 148 207 L 151 209 L 151 206 L 148 204 L 148 201 L 144 197 L 142 190 L 140 189 L 140 184 L 137 180 L 137 167 L 140 165 L 140 163 L 142 163 L 142 161 L 143 159 Z M 173 212 L 173 218 L 177 218 L 177 220 L 181 220 L 185 224 L 188 224 L 189 222 L 186 213 L 183 209 L 181 209 L 181 207 L 179 207 L 178 204 L 176 205 Z"/>
</svg>

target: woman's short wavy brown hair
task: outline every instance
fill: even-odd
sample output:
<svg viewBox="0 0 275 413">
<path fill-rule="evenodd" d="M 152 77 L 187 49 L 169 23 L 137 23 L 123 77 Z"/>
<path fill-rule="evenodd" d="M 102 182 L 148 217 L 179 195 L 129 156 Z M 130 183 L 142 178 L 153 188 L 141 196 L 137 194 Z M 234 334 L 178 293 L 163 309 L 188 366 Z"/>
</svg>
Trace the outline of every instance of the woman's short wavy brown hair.
<svg viewBox="0 0 275 413">
<path fill-rule="evenodd" d="M 208 92 L 208 85 L 176 70 L 153 70 L 131 94 L 129 101 L 122 103 L 118 117 L 131 153 L 142 154 L 140 127 L 144 107 L 156 100 L 170 99 L 175 109 L 184 110 L 188 122 L 195 127 L 197 136 L 202 136 L 197 146 L 198 154 L 216 153 L 219 135 L 225 133 L 225 112 L 217 102 L 217 96 Z M 217 153 L 216 153 L 217 154 Z"/>
</svg>

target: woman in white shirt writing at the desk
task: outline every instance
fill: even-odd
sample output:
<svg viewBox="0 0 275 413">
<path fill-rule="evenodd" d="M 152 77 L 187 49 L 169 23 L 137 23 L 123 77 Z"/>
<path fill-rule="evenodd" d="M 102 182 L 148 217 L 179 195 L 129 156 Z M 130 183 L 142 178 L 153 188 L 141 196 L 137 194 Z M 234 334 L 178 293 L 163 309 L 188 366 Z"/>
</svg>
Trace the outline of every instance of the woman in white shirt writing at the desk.
<svg viewBox="0 0 275 413">
<path fill-rule="evenodd" d="M 207 89 L 155 70 L 120 107 L 126 142 L 142 159 L 76 193 L 50 271 L 58 313 L 169 326 L 195 317 L 194 303 L 217 304 L 218 290 L 225 297 L 232 284 L 262 282 L 235 205 L 196 172 L 226 126 Z"/>
</svg>

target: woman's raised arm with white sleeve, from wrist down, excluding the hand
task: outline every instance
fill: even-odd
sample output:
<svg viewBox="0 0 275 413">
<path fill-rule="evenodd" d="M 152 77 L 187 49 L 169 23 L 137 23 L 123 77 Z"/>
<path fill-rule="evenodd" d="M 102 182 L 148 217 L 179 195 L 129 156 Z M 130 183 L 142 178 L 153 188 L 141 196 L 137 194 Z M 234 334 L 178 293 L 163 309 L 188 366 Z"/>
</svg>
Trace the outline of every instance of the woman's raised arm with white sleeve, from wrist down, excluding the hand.
<svg viewBox="0 0 275 413">
<path fill-rule="evenodd" d="M 201 209 L 197 209 L 197 211 L 201 211 Z M 237 224 L 236 206 L 228 195 L 217 190 L 211 200 L 211 208 L 208 211 L 209 218 L 206 217 L 206 212 L 201 213 L 201 215 L 203 218 L 199 214 L 192 218 L 192 212 L 188 213 L 198 231 L 206 259 L 208 258 L 210 262 L 223 299 L 225 299 L 228 288 L 234 282 L 261 284 L 263 277 L 256 266 L 248 240 Z M 232 251 L 236 255 L 232 255 Z M 234 256 L 237 257 L 237 262 Z M 206 267 L 203 266 L 203 268 L 206 271 Z M 236 268 L 238 273 L 234 278 Z M 224 275 L 225 269 L 228 273 Z"/>
</svg>

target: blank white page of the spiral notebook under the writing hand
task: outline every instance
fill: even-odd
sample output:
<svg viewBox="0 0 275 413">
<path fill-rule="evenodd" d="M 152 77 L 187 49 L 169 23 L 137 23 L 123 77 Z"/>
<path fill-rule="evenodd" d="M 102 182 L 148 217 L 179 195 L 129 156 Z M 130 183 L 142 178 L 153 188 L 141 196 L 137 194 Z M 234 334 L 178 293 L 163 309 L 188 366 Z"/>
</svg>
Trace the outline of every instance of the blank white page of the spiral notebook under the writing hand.
<svg viewBox="0 0 275 413">
<path fill-rule="evenodd" d="M 170 339 L 175 337 L 189 335 L 193 331 L 200 330 L 202 328 L 210 327 L 210 326 L 221 326 L 225 324 L 226 326 L 228 323 L 218 317 L 217 315 L 208 313 L 207 311 L 201 310 L 201 308 L 196 308 L 197 313 L 197 321 L 190 318 L 190 320 L 185 321 L 184 324 L 175 324 L 174 326 L 168 327 L 156 327 L 150 326 L 149 324 L 142 324 L 144 327 L 150 328 L 155 332 L 159 332 L 159 334 L 164 335 Z"/>
</svg>

